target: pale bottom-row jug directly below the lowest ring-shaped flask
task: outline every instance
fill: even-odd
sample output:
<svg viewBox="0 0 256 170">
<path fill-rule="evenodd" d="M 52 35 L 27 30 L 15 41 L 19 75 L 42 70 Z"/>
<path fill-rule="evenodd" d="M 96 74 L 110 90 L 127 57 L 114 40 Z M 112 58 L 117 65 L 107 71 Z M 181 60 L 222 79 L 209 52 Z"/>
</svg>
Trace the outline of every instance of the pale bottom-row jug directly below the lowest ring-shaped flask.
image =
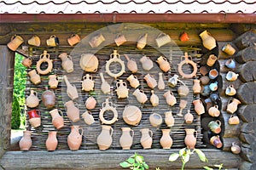
<svg viewBox="0 0 256 170">
<path fill-rule="evenodd" d="M 112 144 L 113 128 L 108 125 L 102 125 L 102 132 L 97 137 L 99 150 L 108 150 Z"/>
</svg>

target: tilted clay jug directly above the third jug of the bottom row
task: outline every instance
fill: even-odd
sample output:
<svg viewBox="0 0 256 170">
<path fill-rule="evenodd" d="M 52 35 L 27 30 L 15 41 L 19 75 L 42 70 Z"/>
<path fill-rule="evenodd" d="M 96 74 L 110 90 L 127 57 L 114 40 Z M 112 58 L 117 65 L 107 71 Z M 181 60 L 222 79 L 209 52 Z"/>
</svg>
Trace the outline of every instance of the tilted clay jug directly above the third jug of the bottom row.
<svg viewBox="0 0 256 170">
<path fill-rule="evenodd" d="M 73 103 L 73 100 L 69 100 L 65 103 L 66 111 L 67 111 L 67 117 L 72 122 L 78 122 L 80 120 L 79 117 L 79 108 L 75 106 Z"/>
</svg>

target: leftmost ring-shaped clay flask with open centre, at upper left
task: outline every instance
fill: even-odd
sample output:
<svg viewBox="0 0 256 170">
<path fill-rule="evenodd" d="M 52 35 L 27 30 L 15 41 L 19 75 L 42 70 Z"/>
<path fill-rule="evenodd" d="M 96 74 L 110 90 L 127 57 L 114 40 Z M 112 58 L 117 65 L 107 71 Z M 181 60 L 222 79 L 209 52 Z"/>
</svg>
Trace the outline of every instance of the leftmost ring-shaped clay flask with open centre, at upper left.
<svg viewBox="0 0 256 170">
<path fill-rule="evenodd" d="M 45 62 L 48 64 L 48 66 L 44 71 L 42 71 L 41 65 Z M 37 62 L 37 71 L 41 75 L 46 75 L 52 70 L 52 67 L 53 67 L 52 59 L 49 59 L 49 54 L 47 54 L 47 51 L 44 50 L 44 54 L 40 55 L 40 59 Z"/>
</svg>

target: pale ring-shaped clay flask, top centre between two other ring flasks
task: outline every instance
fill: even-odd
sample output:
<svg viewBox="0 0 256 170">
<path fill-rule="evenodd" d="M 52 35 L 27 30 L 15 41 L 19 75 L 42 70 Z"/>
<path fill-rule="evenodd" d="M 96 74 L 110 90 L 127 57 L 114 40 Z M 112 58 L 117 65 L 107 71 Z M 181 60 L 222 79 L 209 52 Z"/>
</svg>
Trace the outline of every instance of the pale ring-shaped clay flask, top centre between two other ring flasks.
<svg viewBox="0 0 256 170">
<path fill-rule="evenodd" d="M 118 73 L 113 73 L 112 71 L 109 70 L 109 66 L 112 63 L 119 63 L 121 65 L 121 70 Z M 107 61 L 106 64 L 106 72 L 110 77 L 114 77 L 115 79 L 117 77 L 122 76 L 125 73 L 125 63 L 120 59 L 120 55 L 117 53 L 117 50 L 113 50 L 113 54 L 110 54 L 110 59 Z"/>
</svg>

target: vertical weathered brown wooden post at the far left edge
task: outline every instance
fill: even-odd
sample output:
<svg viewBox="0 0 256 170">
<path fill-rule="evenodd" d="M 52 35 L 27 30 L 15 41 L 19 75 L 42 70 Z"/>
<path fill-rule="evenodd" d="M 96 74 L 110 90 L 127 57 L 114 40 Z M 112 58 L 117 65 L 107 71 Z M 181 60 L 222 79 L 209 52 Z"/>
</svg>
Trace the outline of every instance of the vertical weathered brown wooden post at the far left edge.
<svg viewBox="0 0 256 170">
<path fill-rule="evenodd" d="M 9 149 L 15 54 L 0 46 L 0 157 Z"/>
</svg>

